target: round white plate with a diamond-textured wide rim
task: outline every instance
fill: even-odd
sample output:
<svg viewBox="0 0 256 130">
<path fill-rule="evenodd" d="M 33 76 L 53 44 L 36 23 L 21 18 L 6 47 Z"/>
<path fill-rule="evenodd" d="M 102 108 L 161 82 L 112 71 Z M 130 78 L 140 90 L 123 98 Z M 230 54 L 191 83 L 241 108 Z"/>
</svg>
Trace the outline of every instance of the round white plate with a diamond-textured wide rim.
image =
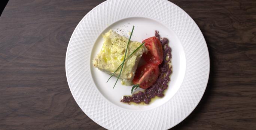
<svg viewBox="0 0 256 130">
<path fill-rule="evenodd" d="M 169 39 L 173 74 L 163 98 L 149 105 L 120 102 L 132 86 L 92 65 L 103 45 L 102 34 L 112 29 L 141 42 L 154 36 Z M 106 129 L 162 130 L 184 120 L 196 107 L 207 86 L 210 60 L 207 45 L 193 19 L 167 0 L 107 0 L 80 21 L 68 43 L 66 75 L 76 103 L 93 121 Z M 143 91 L 137 89 L 135 92 Z"/>
</svg>

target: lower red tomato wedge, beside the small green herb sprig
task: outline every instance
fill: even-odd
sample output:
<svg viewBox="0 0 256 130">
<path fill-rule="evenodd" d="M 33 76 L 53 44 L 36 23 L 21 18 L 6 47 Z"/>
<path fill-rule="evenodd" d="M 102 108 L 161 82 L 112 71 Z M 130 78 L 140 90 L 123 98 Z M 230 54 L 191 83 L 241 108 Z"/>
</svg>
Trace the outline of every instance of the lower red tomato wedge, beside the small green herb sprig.
<svg viewBox="0 0 256 130">
<path fill-rule="evenodd" d="M 142 65 L 136 70 L 136 73 L 132 82 L 134 84 L 139 84 L 140 88 L 146 89 L 155 83 L 159 74 L 160 72 L 159 72 L 158 65 L 156 64 Z"/>
</svg>

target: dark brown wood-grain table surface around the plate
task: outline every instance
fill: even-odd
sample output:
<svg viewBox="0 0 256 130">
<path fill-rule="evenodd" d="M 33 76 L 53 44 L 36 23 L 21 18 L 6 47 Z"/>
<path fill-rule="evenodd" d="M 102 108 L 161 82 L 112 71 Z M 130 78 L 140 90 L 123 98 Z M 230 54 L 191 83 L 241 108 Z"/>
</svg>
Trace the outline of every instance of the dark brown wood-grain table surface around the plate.
<svg viewBox="0 0 256 130">
<path fill-rule="evenodd" d="M 96 129 L 74 101 L 65 53 L 76 25 L 104 0 L 10 0 L 0 17 L 0 129 Z M 171 0 L 205 36 L 210 78 L 173 130 L 256 129 L 256 1 Z"/>
</svg>

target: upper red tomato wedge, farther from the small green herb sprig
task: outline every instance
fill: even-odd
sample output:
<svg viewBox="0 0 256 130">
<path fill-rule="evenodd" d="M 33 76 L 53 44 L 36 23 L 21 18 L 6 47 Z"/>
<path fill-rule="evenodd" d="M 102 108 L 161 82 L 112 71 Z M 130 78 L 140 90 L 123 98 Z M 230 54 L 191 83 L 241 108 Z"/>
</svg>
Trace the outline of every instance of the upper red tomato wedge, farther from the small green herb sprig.
<svg viewBox="0 0 256 130">
<path fill-rule="evenodd" d="M 147 53 L 143 53 L 142 58 L 147 63 L 154 63 L 160 65 L 163 61 L 163 50 L 161 42 L 155 36 L 143 40 L 146 48 L 149 50 Z"/>
</svg>

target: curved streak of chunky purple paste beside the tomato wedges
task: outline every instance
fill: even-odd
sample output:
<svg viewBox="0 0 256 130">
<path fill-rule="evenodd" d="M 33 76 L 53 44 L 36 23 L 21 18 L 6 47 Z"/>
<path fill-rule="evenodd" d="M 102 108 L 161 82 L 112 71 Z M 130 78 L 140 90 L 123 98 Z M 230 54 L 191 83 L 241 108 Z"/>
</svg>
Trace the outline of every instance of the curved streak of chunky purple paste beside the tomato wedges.
<svg viewBox="0 0 256 130">
<path fill-rule="evenodd" d="M 164 90 L 168 87 L 171 71 L 171 48 L 168 46 L 167 38 L 160 38 L 158 31 L 155 31 L 155 36 L 161 41 L 163 47 L 164 61 L 159 65 L 160 75 L 156 82 L 144 92 L 132 94 L 132 96 L 124 96 L 120 101 L 124 103 L 146 103 L 149 104 L 151 98 L 164 97 Z"/>
</svg>

